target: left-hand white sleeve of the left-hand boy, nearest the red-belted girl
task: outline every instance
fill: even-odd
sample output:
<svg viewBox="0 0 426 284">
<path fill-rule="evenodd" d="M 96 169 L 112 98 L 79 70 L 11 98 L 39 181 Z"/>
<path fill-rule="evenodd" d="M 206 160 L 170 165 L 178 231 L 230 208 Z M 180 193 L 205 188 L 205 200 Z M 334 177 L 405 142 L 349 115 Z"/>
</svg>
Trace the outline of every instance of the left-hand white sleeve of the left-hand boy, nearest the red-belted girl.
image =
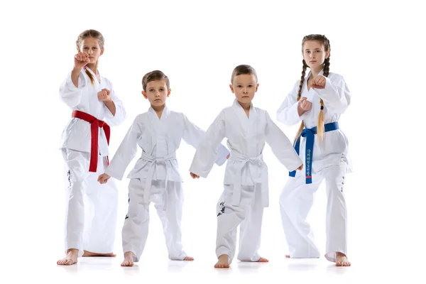
<svg viewBox="0 0 426 284">
<path fill-rule="evenodd" d="M 138 150 L 138 140 L 142 135 L 141 116 L 136 116 L 130 129 L 124 136 L 123 141 L 117 149 L 114 157 L 105 170 L 105 173 L 112 178 L 121 180 L 123 178 L 126 168 L 133 158 L 135 158 L 136 151 Z"/>
</svg>

